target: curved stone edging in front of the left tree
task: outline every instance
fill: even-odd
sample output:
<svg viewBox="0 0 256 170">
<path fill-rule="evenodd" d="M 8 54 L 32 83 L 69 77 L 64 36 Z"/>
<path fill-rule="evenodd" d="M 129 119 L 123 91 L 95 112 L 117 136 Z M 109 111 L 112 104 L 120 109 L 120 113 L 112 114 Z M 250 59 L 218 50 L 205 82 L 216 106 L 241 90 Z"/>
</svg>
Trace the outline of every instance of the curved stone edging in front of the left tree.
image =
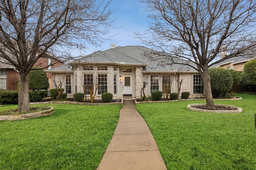
<svg viewBox="0 0 256 170">
<path fill-rule="evenodd" d="M 20 114 L 20 115 L 3 115 L 0 116 L 0 121 L 12 121 L 12 120 L 22 120 L 22 119 L 30 119 L 34 117 L 41 117 L 41 116 L 47 116 L 51 115 L 54 111 L 53 107 L 49 107 L 50 109 L 44 110 L 44 111 L 38 111 L 33 113 L 26 113 L 26 114 Z"/>
</svg>

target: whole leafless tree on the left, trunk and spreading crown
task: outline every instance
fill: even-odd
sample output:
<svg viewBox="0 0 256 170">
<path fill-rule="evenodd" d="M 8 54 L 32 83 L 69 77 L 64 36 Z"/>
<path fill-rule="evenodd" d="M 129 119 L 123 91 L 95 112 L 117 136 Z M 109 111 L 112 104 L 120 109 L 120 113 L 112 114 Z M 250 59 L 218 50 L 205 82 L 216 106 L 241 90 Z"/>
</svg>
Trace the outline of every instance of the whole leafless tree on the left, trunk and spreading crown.
<svg viewBox="0 0 256 170">
<path fill-rule="evenodd" d="M 114 21 L 110 1 L 0 1 L 0 57 L 19 71 L 18 111 L 30 109 L 28 74 L 38 59 L 51 53 L 67 61 L 69 50 L 104 41 Z"/>
</svg>

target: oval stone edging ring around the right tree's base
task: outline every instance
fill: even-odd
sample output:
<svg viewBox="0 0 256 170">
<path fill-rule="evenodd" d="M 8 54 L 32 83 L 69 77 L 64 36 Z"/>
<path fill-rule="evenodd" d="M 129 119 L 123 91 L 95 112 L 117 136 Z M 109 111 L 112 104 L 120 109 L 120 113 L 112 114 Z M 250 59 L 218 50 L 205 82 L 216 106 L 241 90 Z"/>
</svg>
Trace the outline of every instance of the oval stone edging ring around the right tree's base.
<svg viewBox="0 0 256 170">
<path fill-rule="evenodd" d="M 231 105 L 225 105 L 225 104 L 215 104 L 214 106 L 219 106 L 219 107 L 230 107 L 232 110 L 207 110 L 207 109 L 199 109 L 195 108 L 195 106 L 206 106 L 206 104 L 189 104 L 187 106 L 188 110 L 192 111 L 201 111 L 201 112 L 206 112 L 206 113 L 241 113 L 243 110 L 240 107 L 236 106 L 231 106 Z M 235 109 L 235 110 L 233 110 Z"/>
</svg>

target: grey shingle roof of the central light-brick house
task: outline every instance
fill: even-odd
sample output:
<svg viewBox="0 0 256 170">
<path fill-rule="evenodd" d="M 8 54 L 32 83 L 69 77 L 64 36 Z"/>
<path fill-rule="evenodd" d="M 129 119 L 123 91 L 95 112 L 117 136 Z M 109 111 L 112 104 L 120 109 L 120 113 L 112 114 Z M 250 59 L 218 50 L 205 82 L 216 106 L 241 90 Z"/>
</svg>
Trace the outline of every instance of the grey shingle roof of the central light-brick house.
<svg viewBox="0 0 256 170">
<path fill-rule="evenodd" d="M 188 71 L 188 66 L 182 64 L 172 64 L 167 66 L 160 66 L 158 61 L 151 61 L 149 58 L 145 57 L 144 51 L 151 51 L 143 46 L 125 46 L 125 47 L 115 47 L 113 49 L 108 49 L 105 51 L 96 51 L 90 55 L 82 57 L 75 60 L 72 63 L 116 63 L 116 64 L 129 64 L 129 65 L 143 65 L 146 69 L 143 71 L 149 72 L 172 72 L 174 70 L 178 71 Z M 182 59 L 179 62 L 186 63 Z M 190 67 L 189 71 L 196 71 Z"/>
</svg>

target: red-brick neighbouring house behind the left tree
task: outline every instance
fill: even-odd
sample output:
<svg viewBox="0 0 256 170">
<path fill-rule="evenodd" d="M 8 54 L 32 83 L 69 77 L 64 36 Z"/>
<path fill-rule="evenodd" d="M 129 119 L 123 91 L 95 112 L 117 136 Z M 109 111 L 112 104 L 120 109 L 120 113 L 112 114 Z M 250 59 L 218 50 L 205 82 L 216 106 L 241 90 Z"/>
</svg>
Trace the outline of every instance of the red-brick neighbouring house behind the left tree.
<svg viewBox="0 0 256 170">
<path fill-rule="evenodd" d="M 0 59 L 3 60 L 2 58 Z M 4 64 L 7 62 L 0 61 L 0 90 L 17 90 L 19 74 L 18 70 L 11 64 Z M 52 66 L 46 69 L 51 69 L 56 66 L 63 65 L 63 62 L 54 58 L 52 55 L 48 55 L 47 57 L 40 58 L 34 66 L 40 66 L 42 68 L 48 66 L 52 63 Z M 46 70 L 45 69 L 45 70 Z M 47 77 L 49 79 L 49 89 L 52 88 L 52 74 L 47 72 Z"/>
</svg>

